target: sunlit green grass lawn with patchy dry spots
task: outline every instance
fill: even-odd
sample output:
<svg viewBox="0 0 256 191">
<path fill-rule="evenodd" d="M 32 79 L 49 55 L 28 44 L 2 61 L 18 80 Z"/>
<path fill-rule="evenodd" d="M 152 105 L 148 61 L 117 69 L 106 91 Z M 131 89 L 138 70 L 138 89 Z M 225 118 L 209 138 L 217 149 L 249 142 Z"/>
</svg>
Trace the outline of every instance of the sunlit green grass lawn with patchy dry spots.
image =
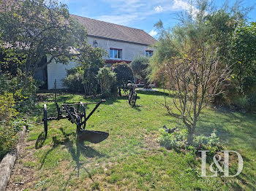
<svg viewBox="0 0 256 191">
<path fill-rule="evenodd" d="M 39 104 L 35 115 L 40 119 L 43 103 L 50 112 L 55 111 L 51 99 Z M 58 96 L 59 103 L 79 101 L 99 99 Z M 138 91 L 134 108 L 127 104 L 127 98 L 108 98 L 87 123 L 89 130 L 110 134 L 99 144 L 78 144 L 76 126 L 68 120 L 49 122 L 46 140 L 42 139 L 42 123 L 34 125 L 8 190 L 256 190 L 255 114 L 204 110 L 197 134 L 210 135 L 217 128 L 224 149 L 235 150 L 244 158 L 244 169 L 234 178 L 202 178 L 200 158 L 159 146 L 160 126 L 183 126 L 157 104 L 163 101 L 161 92 Z M 236 174 L 235 165 L 232 172 Z"/>
</svg>

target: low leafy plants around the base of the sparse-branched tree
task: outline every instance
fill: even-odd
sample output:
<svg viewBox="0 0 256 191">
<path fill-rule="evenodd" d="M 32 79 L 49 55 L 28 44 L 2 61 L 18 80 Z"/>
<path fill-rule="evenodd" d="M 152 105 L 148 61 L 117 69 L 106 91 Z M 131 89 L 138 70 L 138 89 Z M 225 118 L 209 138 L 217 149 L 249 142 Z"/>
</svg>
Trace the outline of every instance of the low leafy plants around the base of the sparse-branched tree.
<svg viewBox="0 0 256 191">
<path fill-rule="evenodd" d="M 159 132 L 158 141 L 162 147 L 167 149 L 185 149 L 194 154 L 200 149 L 208 149 L 212 153 L 219 149 L 219 138 L 216 129 L 212 131 L 211 136 L 195 136 L 192 145 L 187 144 L 187 129 L 167 133 L 165 128 L 160 128 Z"/>
</svg>

